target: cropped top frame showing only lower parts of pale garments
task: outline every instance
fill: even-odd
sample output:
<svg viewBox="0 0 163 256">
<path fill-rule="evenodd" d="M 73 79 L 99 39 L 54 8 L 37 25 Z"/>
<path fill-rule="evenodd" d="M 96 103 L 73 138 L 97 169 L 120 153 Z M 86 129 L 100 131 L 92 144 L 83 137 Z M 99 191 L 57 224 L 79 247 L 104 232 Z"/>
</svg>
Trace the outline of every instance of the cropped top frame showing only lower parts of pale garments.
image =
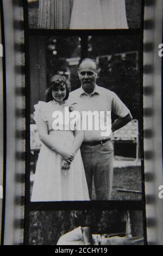
<svg viewBox="0 0 163 256">
<path fill-rule="evenodd" d="M 28 0 L 29 28 L 128 29 L 141 26 L 142 0 Z"/>
</svg>

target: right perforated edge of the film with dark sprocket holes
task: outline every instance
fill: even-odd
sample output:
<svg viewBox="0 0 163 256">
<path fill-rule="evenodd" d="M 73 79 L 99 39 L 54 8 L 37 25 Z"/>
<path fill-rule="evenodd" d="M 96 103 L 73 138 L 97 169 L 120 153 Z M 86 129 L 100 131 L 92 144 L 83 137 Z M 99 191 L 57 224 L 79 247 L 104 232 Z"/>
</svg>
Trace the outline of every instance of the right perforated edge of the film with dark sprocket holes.
<svg viewBox="0 0 163 256">
<path fill-rule="evenodd" d="M 158 46 L 162 40 L 162 1 L 145 1 L 143 53 L 143 127 L 144 167 L 149 245 L 162 245 L 163 203 L 158 197 L 162 185 L 161 141 L 161 58 Z"/>
</svg>

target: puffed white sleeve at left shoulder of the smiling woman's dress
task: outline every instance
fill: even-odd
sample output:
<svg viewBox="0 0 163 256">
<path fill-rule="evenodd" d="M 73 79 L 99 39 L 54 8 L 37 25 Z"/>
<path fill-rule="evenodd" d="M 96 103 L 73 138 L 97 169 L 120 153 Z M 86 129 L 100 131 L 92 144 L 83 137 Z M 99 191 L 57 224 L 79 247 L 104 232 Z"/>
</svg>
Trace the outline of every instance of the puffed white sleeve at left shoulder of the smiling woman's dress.
<svg viewBox="0 0 163 256">
<path fill-rule="evenodd" d="M 44 101 L 39 101 L 36 105 L 34 105 L 34 120 L 37 123 L 38 118 L 40 117 L 43 121 L 47 121 L 47 103 Z"/>
</svg>

